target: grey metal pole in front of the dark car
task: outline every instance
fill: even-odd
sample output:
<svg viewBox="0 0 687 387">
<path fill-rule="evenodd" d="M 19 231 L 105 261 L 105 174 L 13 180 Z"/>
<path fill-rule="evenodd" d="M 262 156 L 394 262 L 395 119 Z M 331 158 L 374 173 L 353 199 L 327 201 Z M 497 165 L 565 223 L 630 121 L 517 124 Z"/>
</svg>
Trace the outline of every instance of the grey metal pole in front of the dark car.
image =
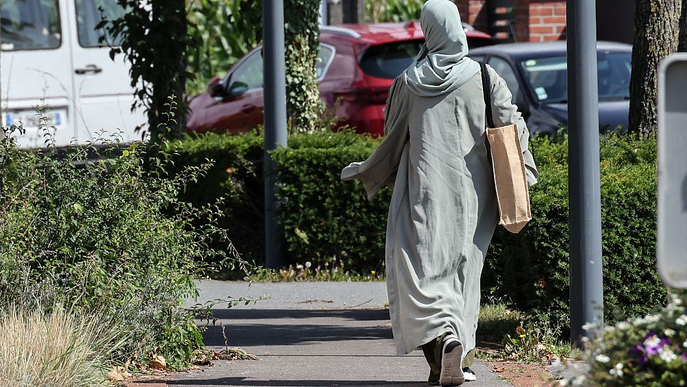
<svg viewBox="0 0 687 387">
<path fill-rule="evenodd" d="M 567 2 L 567 84 L 570 153 L 570 328 L 603 321 L 599 177 L 596 1 Z"/>
</svg>

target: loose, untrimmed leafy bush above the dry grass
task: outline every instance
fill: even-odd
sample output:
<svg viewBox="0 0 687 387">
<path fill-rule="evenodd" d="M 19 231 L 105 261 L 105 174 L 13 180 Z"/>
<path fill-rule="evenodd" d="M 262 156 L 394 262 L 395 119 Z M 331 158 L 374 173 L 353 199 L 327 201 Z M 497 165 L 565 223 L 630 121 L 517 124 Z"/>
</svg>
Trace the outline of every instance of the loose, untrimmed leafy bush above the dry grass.
<svg viewBox="0 0 687 387">
<path fill-rule="evenodd" d="M 0 304 L 64 305 L 126 333 L 115 360 L 162 356 L 183 369 L 203 345 L 193 311 L 183 309 L 198 295 L 194 277 L 216 268 L 210 258 L 240 263 L 216 208 L 178 199 L 210 164 L 166 179 L 173 155 L 111 145 L 93 160 L 93 146 L 58 154 L 0 140 Z"/>
</svg>

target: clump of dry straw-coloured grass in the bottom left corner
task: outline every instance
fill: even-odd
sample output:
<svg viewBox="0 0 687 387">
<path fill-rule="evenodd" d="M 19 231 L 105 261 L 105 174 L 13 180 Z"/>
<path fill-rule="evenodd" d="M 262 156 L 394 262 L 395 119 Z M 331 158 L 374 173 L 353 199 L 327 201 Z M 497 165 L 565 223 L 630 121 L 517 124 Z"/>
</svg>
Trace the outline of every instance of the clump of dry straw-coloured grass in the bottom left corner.
<svg viewBox="0 0 687 387">
<path fill-rule="evenodd" d="M 91 321 L 61 308 L 0 313 L 0 387 L 105 385 L 113 336 Z"/>
</svg>

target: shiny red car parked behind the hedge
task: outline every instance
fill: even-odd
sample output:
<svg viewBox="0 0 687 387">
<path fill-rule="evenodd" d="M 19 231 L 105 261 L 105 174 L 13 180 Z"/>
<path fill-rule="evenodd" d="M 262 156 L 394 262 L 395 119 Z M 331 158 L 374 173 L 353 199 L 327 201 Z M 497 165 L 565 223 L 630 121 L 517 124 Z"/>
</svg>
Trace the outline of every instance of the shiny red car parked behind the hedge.
<svg viewBox="0 0 687 387">
<path fill-rule="evenodd" d="M 472 48 L 491 36 L 464 25 Z M 360 133 L 383 134 L 389 87 L 408 67 L 425 41 L 420 23 L 350 24 L 320 29 L 317 80 L 322 101 L 337 106 L 340 124 Z M 245 133 L 262 124 L 261 47 L 244 56 L 223 78 L 189 102 L 188 132 Z M 338 104 L 335 102 L 340 100 Z"/>
</svg>

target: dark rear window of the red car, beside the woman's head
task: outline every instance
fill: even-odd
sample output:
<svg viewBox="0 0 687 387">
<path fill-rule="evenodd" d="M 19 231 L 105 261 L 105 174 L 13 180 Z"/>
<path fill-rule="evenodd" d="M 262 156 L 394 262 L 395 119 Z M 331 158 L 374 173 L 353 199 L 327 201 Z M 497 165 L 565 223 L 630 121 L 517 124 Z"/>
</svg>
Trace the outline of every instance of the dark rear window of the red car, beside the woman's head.
<svg viewBox="0 0 687 387">
<path fill-rule="evenodd" d="M 363 54 L 360 68 L 370 76 L 394 79 L 413 63 L 423 43 L 422 40 L 400 41 L 372 46 Z"/>
</svg>

